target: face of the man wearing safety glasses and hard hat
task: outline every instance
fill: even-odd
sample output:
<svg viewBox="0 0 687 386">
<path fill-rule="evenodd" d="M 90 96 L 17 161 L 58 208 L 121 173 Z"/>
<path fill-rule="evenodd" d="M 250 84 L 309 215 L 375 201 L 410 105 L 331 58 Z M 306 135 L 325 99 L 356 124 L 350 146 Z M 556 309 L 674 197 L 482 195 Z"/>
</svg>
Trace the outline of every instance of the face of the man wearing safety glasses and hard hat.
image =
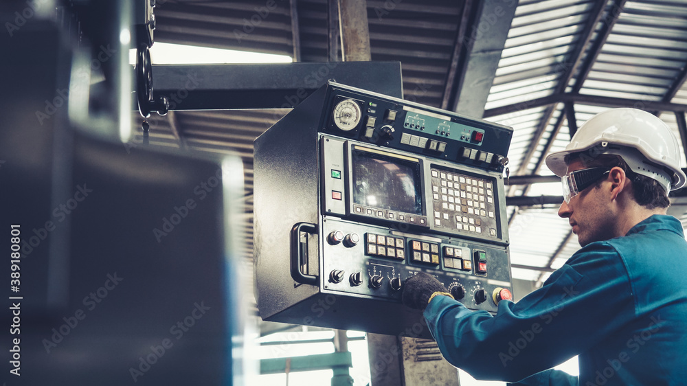
<svg viewBox="0 0 687 386">
<path fill-rule="evenodd" d="M 582 161 L 576 159 L 567 167 L 567 172 L 586 169 Z M 580 245 L 590 242 L 609 240 L 614 236 L 616 222 L 609 207 L 609 195 L 605 190 L 596 188 L 596 184 L 570 198 L 570 203 L 561 204 L 559 216 L 568 218 L 572 231 L 577 235 Z"/>
</svg>

